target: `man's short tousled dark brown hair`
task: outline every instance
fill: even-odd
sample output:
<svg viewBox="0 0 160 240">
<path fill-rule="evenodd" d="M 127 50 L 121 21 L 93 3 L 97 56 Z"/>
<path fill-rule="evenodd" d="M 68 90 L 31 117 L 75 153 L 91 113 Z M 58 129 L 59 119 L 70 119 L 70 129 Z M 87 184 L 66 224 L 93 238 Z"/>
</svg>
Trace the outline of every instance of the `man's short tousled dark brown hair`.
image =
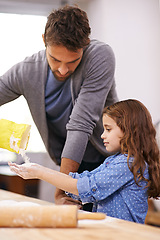
<svg viewBox="0 0 160 240">
<path fill-rule="evenodd" d="M 45 27 L 45 45 L 63 45 L 76 51 L 89 44 L 91 29 L 86 12 L 78 7 L 65 6 L 53 10 Z"/>
</svg>

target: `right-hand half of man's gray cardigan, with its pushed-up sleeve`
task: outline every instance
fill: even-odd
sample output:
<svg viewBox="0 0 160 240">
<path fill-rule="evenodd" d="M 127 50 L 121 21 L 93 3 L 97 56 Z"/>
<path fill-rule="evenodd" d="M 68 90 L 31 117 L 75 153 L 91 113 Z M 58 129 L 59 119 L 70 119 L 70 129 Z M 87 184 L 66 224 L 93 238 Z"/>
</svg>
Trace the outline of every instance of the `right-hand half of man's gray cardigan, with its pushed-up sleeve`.
<svg viewBox="0 0 160 240">
<path fill-rule="evenodd" d="M 106 154 L 100 137 L 103 131 L 101 115 L 104 106 L 117 101 L 114 71 L 112 49 L 107 44 L 92 41 L 72 77 L 75 102 L 67 124 L 62 157 L 80 163 L 89 139 L 97 150 Z"/>
</svg>

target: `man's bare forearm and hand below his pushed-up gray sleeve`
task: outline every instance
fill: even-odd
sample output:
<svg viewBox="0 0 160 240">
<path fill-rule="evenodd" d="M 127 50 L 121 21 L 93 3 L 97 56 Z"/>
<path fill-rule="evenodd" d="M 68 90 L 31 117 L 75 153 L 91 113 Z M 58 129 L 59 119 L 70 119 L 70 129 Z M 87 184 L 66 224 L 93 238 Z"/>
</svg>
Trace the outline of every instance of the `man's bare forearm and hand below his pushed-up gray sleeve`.
<svg viewBox="0 0 160 240">
<path fill-rule="evenodd" d="M 69 172 L 77 172 L 79 168 L 79 163 L 69 159 L 62 158 L 60 172 L 69 174 Z M 68 197 L 65 192 L 61 189 L 56 188 L 55 191 L 55 203 L 56 204 L 76 204 L 79 208 L 82 208 L 82 203 Z"/>
</svg>

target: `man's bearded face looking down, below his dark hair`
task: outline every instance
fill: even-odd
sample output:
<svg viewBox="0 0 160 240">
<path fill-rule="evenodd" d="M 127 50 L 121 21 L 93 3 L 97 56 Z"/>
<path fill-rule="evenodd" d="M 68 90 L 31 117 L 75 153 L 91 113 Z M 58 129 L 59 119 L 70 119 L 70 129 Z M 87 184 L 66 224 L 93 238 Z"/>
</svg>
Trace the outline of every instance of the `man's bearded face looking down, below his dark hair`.
<svg viewBox="0 0 160 240">
<path fill-rule="evenodd" d="M 83 48 L 76 52 L 70 51 L 62 45 L 46 47 L 48 64 L 59 81 L 65 81 L 77 68 L 83 56 Z"/>
</svg>

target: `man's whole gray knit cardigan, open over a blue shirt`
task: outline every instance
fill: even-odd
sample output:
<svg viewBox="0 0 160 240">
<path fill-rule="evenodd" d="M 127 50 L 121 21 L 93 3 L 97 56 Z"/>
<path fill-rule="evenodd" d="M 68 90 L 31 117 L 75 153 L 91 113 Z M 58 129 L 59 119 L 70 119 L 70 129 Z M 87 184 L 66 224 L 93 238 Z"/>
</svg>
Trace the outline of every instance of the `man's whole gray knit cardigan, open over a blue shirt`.
<svg viewBox="0 0 160 240">
<path fill-rule="evenodd" d="M 54 145 L 49 139 L 45 113 L 47 71 L 45 50 L 13 66 L 0 77 L 0 105 L 23 95 L 48 153 L 57 162 L 54 158 Z M 92 40 L 71 77 L 73 110 L 66 126 L 67 138 L 62 157 L 81 162 L 88 140 L 107 156 L 100 137 L 103 132 L 101 114 L 104 106 L 118 100 L 114 71 L 112 49 L 102 42 Z"/>
</svg>

